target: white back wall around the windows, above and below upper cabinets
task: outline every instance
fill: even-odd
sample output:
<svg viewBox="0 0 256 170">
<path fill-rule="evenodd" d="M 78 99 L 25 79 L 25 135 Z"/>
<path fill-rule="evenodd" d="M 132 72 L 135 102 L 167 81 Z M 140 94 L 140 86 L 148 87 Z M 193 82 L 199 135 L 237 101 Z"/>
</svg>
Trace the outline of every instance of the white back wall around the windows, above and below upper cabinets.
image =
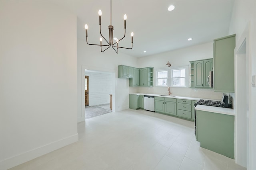
<svg viewBox="0 0 256 170">
<path fill-rule="evenodd" d="M 138 63 L 140 68 L 152 66 L 155 70 L 157 68 L 169 68 L 166 66 L 166 63 L 170 61 L 170 64 L 172 64 L 171 67 L 189 65 L 190 69 L 191 67 L 189 61 L 210 58 L 213 58 L 213 42 L 139 58 Z M 188 96 L 218 100 L 222 98 L 222 93 L 214 92 L 214 90 L 211 89 L 198 89 L 198 92 L 196 92 L 194 89 L 190 88 L 171 87 L 170 91 L 174 96 Z M 139 87 L 139 92 L 150 94 L 168 94 L 167 87 Z"/>
</svg>

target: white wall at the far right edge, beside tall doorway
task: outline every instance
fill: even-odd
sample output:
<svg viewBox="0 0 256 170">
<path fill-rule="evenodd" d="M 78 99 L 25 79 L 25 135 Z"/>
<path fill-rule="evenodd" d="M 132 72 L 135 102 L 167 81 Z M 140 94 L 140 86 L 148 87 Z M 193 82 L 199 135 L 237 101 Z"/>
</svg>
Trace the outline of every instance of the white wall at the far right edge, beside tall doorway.
<svg viewBox="0 0 256 170">
<path fill-rule="evenodd" d="M 246 52 L 248 61 L 248 154 L 247 169 L 256 169 L 256 88 L 252 87 L 252 75 L 256 75 L 256 1 L 235 1 L 229 33 L 236 33 L 236 43 L 241 41 L 244 31 L 248 30 Z M 239 77 L 237 77 L 239 79 Z M 237 103 L 239 107 L 239 103 Z"/>
</svg>

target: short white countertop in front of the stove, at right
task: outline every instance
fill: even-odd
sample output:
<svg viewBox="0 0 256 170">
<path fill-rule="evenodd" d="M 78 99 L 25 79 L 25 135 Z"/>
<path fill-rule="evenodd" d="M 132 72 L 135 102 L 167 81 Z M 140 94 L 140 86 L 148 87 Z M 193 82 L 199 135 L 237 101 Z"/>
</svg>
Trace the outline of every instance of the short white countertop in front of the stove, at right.
<svg viewBox="0 0 256 170">
<path fill-rule="evenodd" d="M 209 111 L 214 113 L 220 113 L 225 115 L 235 115 L 235 110 L 230 108 L 224 108 L 224 107 L 215 107 L 215 106 L 205 106 L 205 105 L 197 105 L 195 107 L 196 110 L 202 110 L 202 111 Z"/>
</svg>

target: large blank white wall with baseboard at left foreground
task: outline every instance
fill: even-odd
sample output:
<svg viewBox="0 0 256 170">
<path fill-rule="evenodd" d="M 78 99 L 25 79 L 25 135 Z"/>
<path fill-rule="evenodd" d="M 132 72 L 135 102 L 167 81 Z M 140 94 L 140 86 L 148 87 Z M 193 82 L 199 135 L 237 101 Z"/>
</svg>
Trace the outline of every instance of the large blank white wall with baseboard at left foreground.
<svg viewBox="0 0 256 170">
<path fill-rule="evenodd" d="M 1 1 L 1 170 L 78 140 L 76 16 Z"/>
</svg>

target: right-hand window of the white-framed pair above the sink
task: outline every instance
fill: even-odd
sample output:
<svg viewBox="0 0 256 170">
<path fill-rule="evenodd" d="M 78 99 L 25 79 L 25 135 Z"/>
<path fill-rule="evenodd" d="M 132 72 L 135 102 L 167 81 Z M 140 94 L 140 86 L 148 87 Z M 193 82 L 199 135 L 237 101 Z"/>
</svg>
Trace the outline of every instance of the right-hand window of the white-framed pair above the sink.
<svg viewBox="0 0 256 170">
<path fill-rule="evenodd" d="M 186 86 L 186 68 L 172 69 L 172 86 Z"/>
</svg>

